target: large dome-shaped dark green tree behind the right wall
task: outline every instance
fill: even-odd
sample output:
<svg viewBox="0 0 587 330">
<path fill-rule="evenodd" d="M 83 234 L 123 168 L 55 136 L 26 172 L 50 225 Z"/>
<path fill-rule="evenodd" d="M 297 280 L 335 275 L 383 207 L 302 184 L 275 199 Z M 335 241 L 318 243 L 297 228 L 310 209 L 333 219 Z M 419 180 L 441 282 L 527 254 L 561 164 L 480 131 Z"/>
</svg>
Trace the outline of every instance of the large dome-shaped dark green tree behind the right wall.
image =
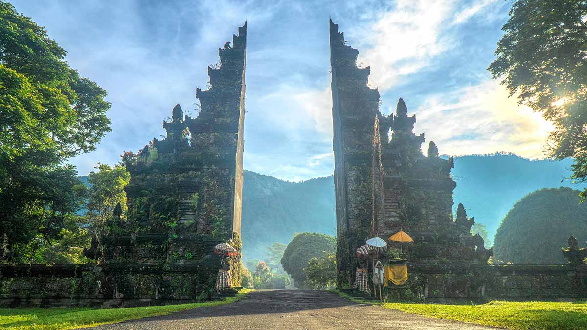
<svg viewBox="0 0 587 330">
<path fill-rule="evenodd" d="M 512 262 L 565 263 L 561 248 L 569 236 L 587 240 L 587 205 L 578 190 L 534 191 L 508 212 L 495 234 L 495 258 Z"/>
</svg>

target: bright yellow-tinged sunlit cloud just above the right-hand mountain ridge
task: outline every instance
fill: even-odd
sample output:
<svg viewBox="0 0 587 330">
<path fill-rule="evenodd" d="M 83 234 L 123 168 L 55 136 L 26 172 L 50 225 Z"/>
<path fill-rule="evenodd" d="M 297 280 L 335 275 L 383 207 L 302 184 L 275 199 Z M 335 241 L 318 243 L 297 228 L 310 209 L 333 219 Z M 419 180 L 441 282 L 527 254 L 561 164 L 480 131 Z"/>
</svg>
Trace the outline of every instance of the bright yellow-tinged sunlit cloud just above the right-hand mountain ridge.
<svg viewBox="0 0 587 330">
<path fill-rule="evenodd" d="M 427 142 L 434 141 L 440 153 L 454 156 L 511 151 L 544 158 L 544 144 L 552 130 L 552 124 L 538 113 L 508 97 L 496 80 L 429 96 L 416 114 L 414 131 L 426 132 Z"/>
</svg>

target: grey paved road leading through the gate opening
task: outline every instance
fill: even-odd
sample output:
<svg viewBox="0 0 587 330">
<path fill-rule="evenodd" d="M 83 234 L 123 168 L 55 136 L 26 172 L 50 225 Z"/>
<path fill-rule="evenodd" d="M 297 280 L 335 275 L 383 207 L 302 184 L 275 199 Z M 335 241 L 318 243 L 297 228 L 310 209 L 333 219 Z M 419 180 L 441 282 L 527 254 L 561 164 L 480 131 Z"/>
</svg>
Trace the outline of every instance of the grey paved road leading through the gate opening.
<svg viewBox="0 0 587 330">
<path fill-rule="evenodd" d="M 87 329 L 87 328 L 86 328 Z M 97 326 L 100 330 L 495 329 L 357 304 L 325 291 L 251 292 L 233 304 Z"/>
</svg>

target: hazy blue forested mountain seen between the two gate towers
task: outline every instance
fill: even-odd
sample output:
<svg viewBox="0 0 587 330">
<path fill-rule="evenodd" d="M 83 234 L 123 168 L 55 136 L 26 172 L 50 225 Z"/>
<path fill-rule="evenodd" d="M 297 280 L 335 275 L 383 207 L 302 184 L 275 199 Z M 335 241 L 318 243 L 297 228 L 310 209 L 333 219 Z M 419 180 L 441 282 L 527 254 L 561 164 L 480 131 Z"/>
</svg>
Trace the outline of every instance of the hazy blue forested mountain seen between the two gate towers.
<svg viewBox="0 0 587 330">
<path fill-rule="evenodd" d="M 266 247 L 288 244 L 294 233 L 304 231 L 336 236 L 333 177 L 292 183 L 245 170 L 243 257 L 263 259 Z"/>
</svg>

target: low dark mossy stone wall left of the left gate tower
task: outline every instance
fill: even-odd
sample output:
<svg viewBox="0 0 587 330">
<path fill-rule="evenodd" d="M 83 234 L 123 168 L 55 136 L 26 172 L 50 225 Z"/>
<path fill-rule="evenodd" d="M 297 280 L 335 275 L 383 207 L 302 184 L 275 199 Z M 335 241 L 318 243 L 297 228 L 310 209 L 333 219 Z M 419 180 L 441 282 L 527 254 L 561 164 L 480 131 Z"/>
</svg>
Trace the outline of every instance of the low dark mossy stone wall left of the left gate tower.
<svg viewBox="0 0 587 330">
<path fill-rule="evenodd" d="M 0 307 L 131 307 L 208 298 L 217 260 L 198 265 L 0 265 Z M 204 278 L 203 278 L 204 277 Z M 203 285 L 205 283 L 205 285 Z"/>
</svg>

